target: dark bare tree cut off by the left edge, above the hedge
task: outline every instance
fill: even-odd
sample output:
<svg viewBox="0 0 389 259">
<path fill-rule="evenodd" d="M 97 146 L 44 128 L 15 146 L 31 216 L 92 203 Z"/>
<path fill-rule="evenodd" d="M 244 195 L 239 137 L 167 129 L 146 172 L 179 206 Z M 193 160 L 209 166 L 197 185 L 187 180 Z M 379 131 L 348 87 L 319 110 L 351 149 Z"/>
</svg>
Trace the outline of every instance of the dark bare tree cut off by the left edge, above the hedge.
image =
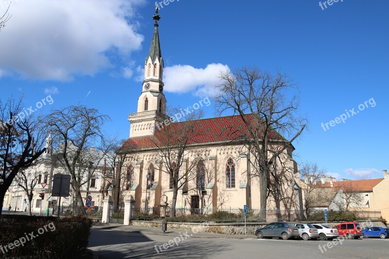
<svg viewBox="0 0 389 259">
<path fill-rule="evenodd" d="M 0 204 L 17 174 L 46 150 L 42 148 L 41 122 L 34 115 L 25 118 L 22 105 L 22 99 L 0 101 Z"/>
</svg>

